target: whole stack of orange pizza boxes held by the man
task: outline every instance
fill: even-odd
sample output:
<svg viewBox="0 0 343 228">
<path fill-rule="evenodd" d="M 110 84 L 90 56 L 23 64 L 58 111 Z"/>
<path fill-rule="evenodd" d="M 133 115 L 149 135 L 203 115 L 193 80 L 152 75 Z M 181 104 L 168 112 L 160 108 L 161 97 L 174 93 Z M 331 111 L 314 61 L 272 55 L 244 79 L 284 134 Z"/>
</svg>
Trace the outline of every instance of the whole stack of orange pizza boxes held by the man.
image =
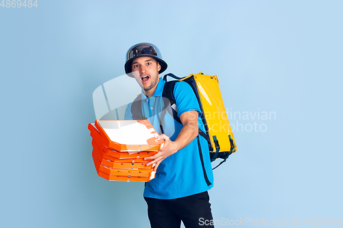
<svg viewBox="0 0 343 228">
<path fill-rule="evenodd" d="M 154 179 L 150 157 L 163 148 L 164 140 L 149 121 L 95 121 L 89 123 L 93 161 L 97 174 L 110 181 Z"/>
</svg>

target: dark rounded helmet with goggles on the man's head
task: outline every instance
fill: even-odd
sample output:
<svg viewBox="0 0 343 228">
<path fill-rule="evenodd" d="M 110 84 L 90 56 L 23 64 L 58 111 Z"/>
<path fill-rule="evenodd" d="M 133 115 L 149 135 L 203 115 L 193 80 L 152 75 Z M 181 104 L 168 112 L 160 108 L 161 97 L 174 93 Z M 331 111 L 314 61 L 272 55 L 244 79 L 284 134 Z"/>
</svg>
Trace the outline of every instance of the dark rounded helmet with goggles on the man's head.
<svg viewBox="0 0 343 228">
<path fill-rule="evenodd" d="M 130 47 L 126 53 L 126 63 L 124 66 L 125 73 L 128 74 L 132 72 L 132 60 L 143 56 L 150 56 L 160 63 L 161 70 L 158 71 L 159 74 L 163 73 L 163 71 L 167 69 L 168 65 L 165 61 L 163 61 L 160 50 L 158 50 L 155 45 L 150 44 L 149 42 L 140 42 L 139 44 Z M 132 77 L 131 74 L 128 74 L 128 76 Z"/>
</svg>

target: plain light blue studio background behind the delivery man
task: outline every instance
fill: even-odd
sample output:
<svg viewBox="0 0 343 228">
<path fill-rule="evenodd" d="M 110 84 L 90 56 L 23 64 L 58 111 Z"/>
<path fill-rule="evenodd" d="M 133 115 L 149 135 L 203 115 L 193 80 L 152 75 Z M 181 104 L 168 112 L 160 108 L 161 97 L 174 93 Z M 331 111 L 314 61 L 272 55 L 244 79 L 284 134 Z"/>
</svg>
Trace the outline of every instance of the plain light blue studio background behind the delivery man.
<svg viewBox="0 0 343 228">
<path fill-rule="evenodd" d="M 301 219 L 306 227 L 306 218 L 342 218 L 342 7 L 289 0 L 1 7 L 0 226 L 149 227 L 143 183 L 98 177 L 87 129 L 93 91 L 123 75 L 137 42 L 157 45 L 166 73 L 217 75 L 229 118 L 276 113 L 230 119 L 244 129 L 234 130 L 237 153 L 214 172 L 214 219 L 290 220 L 288 227 Z M 255 122 L 266 131 L 249 131 Z"/>
</svg>

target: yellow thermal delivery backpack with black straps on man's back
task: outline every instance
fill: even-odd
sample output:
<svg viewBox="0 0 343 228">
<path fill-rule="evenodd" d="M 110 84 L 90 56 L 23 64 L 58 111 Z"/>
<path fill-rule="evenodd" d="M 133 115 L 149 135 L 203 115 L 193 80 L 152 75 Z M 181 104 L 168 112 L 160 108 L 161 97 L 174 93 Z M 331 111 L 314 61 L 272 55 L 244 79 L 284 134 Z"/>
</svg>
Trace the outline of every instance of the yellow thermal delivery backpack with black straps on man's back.
<svg viewBox="0 0 343 228">
<path fill-rule="evenodd" d="M 206 138 L 209 144 L 211 162 L 217 158 L 223 159 L 217 165 L 220 166 L 231 153 L 237 151 L 237 146 L 233 137 L 233 131 L 231 131 L 230 123 L 228 122 L 228 116 L 226 115 L 217 75 L 204 75 L 200 72 L 199 74 L 191 74 L 180 78 L 169 73 L 163 77 L 163 80 L 167 81 L 167 76 L 173 77 L 178 81 L 187 82 L 193 89 L 194 94 L 196 94 L 202 112 L 202 122 L 206 130 L 206 132 L 202 132 L 199 129 L 199 134 Z M 175 104 L 174 85 L 176 82 L 176 80 L 167 81 L 163 89 L 163 97 L 169 99 L 171 107 Z M 171 110 L 175 120 L 181 123 L 176 110 Z"/>
</svg>

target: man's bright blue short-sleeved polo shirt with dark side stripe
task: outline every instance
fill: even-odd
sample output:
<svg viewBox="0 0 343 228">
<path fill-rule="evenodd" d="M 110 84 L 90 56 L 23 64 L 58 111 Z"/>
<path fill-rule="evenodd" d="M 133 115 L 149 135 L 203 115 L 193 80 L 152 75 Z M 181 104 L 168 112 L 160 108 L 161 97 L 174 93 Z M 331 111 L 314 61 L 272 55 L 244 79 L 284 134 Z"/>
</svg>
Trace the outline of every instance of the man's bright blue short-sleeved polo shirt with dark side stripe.
<svg viewBox="0 0 343 228">
<path fill-rule="evenodd" d="M 160 131 L 160 116 L 164 107 L 162 99 L 163 88 L 165 81 L 159 79 L 154 95 L 150 98 L 142 96 L 142 113 L 147 117 L 147 120 L 152 123 L 156 131 Z M 200 115 L 200 107 L 191 86 L 185 81 L 179 81 L 174 87 L 174 97 L 178 116 L 184 112 L 196 110 L 199 113 L 198 125 L 204 131 Z M 126 107 L 125 119 L 132 119 L 130 103 Z M 163 119 L 164 134 L 167 135 L 171 141 L 174 141 L 182 125 L 174 120 L 168 112 Z M 160 132 L 161 134 L 161 132 Z M 206 176 L 211 184 L 206 183 L 204 177 L 204 170 L 200 160 L 200 153 L 198 149 L 198 138 L 202 149 L 202 159 L 204 161 L 204 169 Z M 165 160 L 159 164 L 155 178 L 148 181 L 144 189 L 144 197 L 155 199 L 177 199 L 180 197 L 187 197 L 192 194 L 205 192 L 213 187 L 213 172 L 211 167 L 211 160 L 209 157 L 209 147 L 206 140 L 199 135 L 191 141 L 187 147 L 180 149 L 173 155 L 166 157 Z"/>
</svg>

